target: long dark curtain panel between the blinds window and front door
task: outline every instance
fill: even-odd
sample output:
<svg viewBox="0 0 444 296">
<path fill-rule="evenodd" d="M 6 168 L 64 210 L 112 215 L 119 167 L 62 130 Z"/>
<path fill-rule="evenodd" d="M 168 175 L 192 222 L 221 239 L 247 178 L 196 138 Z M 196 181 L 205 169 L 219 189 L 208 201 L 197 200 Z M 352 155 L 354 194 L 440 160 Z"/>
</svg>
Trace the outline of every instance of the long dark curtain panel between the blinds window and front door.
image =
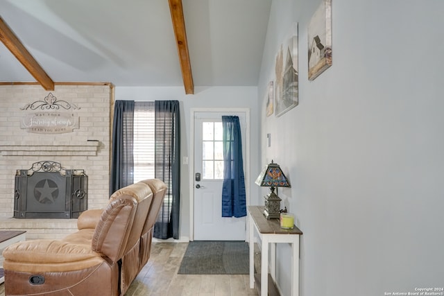
<svg viewBox="0 0 444 296">
<path fill-rule="evenodd" d="M 154 225 L 155 238 L 179 238 L 180 112 L 179 101 L 155 101 L 155 177 L 167 184 Z"/>
</svg>

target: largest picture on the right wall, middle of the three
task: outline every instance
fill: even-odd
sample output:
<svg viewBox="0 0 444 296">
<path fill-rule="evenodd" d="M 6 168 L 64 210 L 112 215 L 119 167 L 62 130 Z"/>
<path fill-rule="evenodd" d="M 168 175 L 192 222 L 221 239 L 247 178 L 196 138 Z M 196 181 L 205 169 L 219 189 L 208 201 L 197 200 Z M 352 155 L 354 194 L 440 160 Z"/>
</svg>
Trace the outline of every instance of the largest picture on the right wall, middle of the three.
<svg viewBox="0 0 444 296">
<path fill-rule="evenodd" d="M 298 24 L 280 45 L 275 61 L 275 116 L 298 105 Z"/>
</svg>

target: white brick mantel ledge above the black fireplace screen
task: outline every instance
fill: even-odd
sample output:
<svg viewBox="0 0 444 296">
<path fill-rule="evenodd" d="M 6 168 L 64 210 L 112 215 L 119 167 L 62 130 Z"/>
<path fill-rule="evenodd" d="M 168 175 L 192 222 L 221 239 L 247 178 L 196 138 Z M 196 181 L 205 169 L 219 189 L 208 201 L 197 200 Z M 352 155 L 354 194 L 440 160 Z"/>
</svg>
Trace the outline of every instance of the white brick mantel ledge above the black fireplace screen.
<svg viewBox="0 0 444 296">
<path fill-rule="evenodd" d="M 0 142 L 1 156 L 96 156 L 100 141 L 82 143 L 19 143 Z"/>
</svg>

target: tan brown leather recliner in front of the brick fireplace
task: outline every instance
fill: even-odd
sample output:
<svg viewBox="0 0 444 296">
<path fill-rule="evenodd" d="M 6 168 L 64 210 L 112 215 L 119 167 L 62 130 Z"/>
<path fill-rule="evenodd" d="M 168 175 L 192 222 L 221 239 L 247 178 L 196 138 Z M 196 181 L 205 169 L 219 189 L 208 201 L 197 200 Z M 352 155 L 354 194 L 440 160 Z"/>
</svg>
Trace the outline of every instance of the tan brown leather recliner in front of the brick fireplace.
<svg viewBox="0 0 444 296">
<path fill-rule="evenodd" d="M 83 212 L 77 232 L 10 245 L 3 250 L 5 295 L 124 295 L 148 262 L 166 190 L 156 179 L 132 184 L 105 209 Z"/>
</svg>

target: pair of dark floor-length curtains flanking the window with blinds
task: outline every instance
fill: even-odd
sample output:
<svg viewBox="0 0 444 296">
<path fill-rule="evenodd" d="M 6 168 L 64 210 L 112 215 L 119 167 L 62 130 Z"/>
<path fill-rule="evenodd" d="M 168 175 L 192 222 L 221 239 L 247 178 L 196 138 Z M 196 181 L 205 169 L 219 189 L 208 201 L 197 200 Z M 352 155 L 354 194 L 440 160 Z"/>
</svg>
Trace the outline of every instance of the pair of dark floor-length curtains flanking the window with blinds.
<svg viewBox="0 0 444 296">
<path fill-rule="evenodd" d="M 134 111 L 155 111 L 155 175 L 168 191 L 154 225 L 155 238 L 179 238 L 180 116 L 179 101 L 116 101 L 112 124 L 110 195 L 134 182 Z"/>
</svg>

